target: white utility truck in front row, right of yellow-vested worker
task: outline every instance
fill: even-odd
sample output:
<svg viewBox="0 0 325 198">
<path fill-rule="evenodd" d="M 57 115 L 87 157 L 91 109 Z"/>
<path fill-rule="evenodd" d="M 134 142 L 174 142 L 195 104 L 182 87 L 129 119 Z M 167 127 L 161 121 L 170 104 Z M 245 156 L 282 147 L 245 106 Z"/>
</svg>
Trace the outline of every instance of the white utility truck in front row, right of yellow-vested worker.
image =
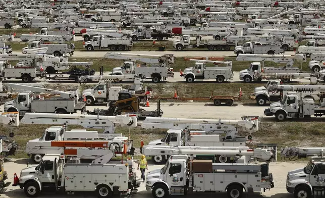
<svg viewBox="0 0 325 198">
<path fill-rule="evenodd" d="M 220 153 L 213 150 L 187 151 L 205 155 Z M 262 158 L 253 150 L 248 152 L 256 155 L 257 159 Z M 241 198 L 244 189 L 248 192 L 258 192 L 273 187 L 273 175 L 268 173 L 268 164 L 219 164 L 212 161 L 192 161 L 187 155 L 171 156 L 161 170 L 149 171 L 146 174 L 146 189 L 155 198 L 185 195 L 196 191 L 226 190 L 229 198 Z"/>
</svg>

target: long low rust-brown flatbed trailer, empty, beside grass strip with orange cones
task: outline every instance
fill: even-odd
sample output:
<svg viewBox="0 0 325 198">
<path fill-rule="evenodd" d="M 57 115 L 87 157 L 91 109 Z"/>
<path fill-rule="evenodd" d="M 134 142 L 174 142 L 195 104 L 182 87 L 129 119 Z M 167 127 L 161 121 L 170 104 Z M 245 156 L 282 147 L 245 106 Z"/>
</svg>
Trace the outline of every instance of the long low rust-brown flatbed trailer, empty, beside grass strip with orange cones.
<svg viewBox="0 0 325 198">
<path fill-rule="evenodd" d="M 179 100 L 179 101 L 213 101 L 214 106 L 220 106 L 225 103 L 226 106 L 232 106 L 235 101 L 241 101 L 242 99 L 242 91 L 240 90 L 238 96 L 232 95 L 213 95 L 209 97 L 179 97 L 177 92 L 175 91 L 174 97 L 153 97 L 153 99 L 159 99 L 163 101 L 167 100 Z"/>
</svg>

